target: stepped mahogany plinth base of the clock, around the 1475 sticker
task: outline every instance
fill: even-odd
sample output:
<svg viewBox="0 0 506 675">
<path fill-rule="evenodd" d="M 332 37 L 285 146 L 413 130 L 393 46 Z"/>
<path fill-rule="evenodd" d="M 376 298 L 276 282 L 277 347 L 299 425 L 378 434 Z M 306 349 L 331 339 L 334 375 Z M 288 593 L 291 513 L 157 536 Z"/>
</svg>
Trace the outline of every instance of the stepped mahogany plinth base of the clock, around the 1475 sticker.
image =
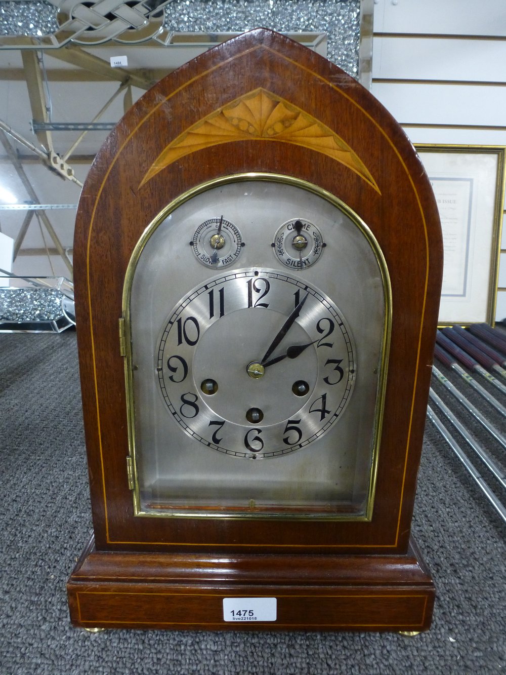
<svg viewBox="0 0 506 675">
<path fill-rule="evenodd" d="M 428 630 L 432 578 L 404 555 L 136 553 L 84 549 L 67 584 L 74 626 L 183 630 Z M 277 599 L 275 621 L 225 621 L 223 598 Z"/>
</svg>

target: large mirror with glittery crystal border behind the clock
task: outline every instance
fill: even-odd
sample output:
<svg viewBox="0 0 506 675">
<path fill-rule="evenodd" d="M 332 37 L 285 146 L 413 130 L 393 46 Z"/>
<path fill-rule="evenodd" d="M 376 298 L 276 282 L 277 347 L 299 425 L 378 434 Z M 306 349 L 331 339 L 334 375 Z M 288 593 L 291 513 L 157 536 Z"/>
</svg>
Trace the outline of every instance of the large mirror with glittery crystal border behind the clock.
<svg viewBox="0 0 506 675">
<path fill-rule="evenodd" d="M 113 114 L 112 119 L 103 122 L 99 120 L 101 111 L 90 124 L 82 122 L 82 117 L 77 122 L 68 122 L 65 95 L 69 94 L 56 92 L 54 98 L 59 109 L 55 117 L 62 117 L 63 113 L 65 122 L 53 121 L 50 94 L 53 82 L 48 80 L 44 53 L 53 52 L 55 55 L 60 47 L 67 45 L 75 50 L 65 51 L 67 55 L 79 52 L 76 56 L 80 59 L 76 64 L 78 68 L 96 72 L 99 80 L 110 78 L 111 82 L 118 82 L 121 85 L 119 90 L 103 107 L 103 111 L 108 110 L 107 114 L 109 103 L 126 88 L 127 82 L 129 90 L 125 92 L 124 109 L 132 105 L 132 87 L 140 86 L 145 90 L 210 47 L 256 26 L 266 26 L 287 34 L 339 65 L 370 90 L 373 14 L 374 0 L 139 0 L 136 3 L 121 0 L 116 3 L 110 0 L 96 0 L 94 3 L 78 0 L 0 0 L 3 63 L 8 61 L 9 68 L 18 69 L 17 74 L 9 74 L 9 69 L 5 68 L 0 78 L 0 84 L 5 84 L 3 113 L 7 115 L 5 122 L 1 119 L 3 114 L 0 115 L 0 140 L 7 159 L 0 172 L 0 239 L 1 233 L 4 233 L 0 241 L 0 275 L 4 273 L 4 278 L 0 279 L 0 332 L 61 332 L 74 325 L 70 306 L 73 302 L 72 280 L 65 279 L 69 295 L 61 291 L 63 277 L 59 274 L 63 272 L 72 279 L 73 249 L 69 237 L 72 235 L 78 198 L 73 192 L 74 196 L 69 199 L 73 203 L 60 203 L 65 198 L 59 189 L 59 180 L 63 178 L 67 183 L 74 181 L 77 186 L 82 186 L 80 180 L 84 180 L 84 161 L 76 157 L 75 148 L 86 131 L 92 131 L 86 138 L 98 139 L 97 134 L 103 134 L 105 138 L 119 119 Z M 119 54 L 126 56 L 130 68 L 126 67 L 123 72 L 119 68 L 117 76 L 109 77 L 109 57 Z M 62 60 L 65 61 L 64 58 Z M 97 63 L 100 68 L 94 70 Z M 30 97 L 28 107 L 24 98 L 26 92 L 22 92 L 19 105 L 12 105 L 9 97 L 18 95 L 13 93 L 18 91 L 16 87 L 9 86 L 12 77 L 26 79 Z M 79 78 L 76 78 L 74 86 L 80 84 Z M 85 86 L 86 77 L 83 79 L 83 95 L 86 95 Z M 76 96 L 75 88 L 72 96 Z M 12 111 L 18 108 L 26 109 L 27 115 L 32 114 L 32 119 L 16 117 Z M 9 111 L 13 122 L 9 119 Z M 86 112 L 83 114 L 86 117 Z M 27 124 L 30 124 L 32 132 L 28 140 Z M 53 140 L 57 138 L 54 146 L 51 140 L 53 132 Z M 61 147 L 69 138 L 65 134 L 72 132 L 81 135 L 72 149 L 63 154 Z M 93 140 L 94 151 L 83 151 L 82 157 L 92 157 L 101 142 L 97 146 Z M 82 148 L 82 145 L 79 147 Z M 30 167 L 30 164 L 40 165 L 40 160 L 49 169 L 43 171 L 45 176 L 40 175 L 40 169 L 36 174 Z M 74 176 L 76 163 L 81 164 L 78 170 L 80 180 Z M 16 193 L 15 186 L 18 186 Z M 66 213 L 71 212 L 69 217 L 65 215 L 65 219 L 59 217 L 63 209 L 67 209 Z M 22 220 L 20 214 L 23 214 Z M 34 215 L 36 217 L 32 218 Z M 25 237 L 30 219 L 34 224 L 30 227 L 29 236 Z M 33 232 L 37 221 L 41 239 Z M 60 242 L 59 236 L 66 241 Z M 43 246 L 40 246 L 37 237 Z M 5 240 L 8 240 L 7 248 L 10 246 L 8 255 Z M 37 262 L 44 252 L 49 265 Z M 16 265 L 18 254 L 30 254 L 30 264 L 25 258 L 24 263 Z M 38 258 L 34 258 L 35 255 Z M 57 261 L 54 266 L 52 259 Z M 44 276 L 48 274 L 52 277 Z"/>
</svg>

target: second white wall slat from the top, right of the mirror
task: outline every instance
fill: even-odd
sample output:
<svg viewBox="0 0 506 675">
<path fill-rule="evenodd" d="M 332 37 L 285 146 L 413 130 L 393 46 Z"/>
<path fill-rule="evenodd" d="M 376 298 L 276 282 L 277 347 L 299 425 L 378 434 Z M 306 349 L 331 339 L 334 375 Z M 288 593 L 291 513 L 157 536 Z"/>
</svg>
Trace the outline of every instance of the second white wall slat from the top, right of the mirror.
<svg viewBox="0 0 506 675">
<path fill-rule="evenodd" d="M 506 41 L 376 37 L 373 50 L 373 78 L 506 82 Z"/>
</svg>

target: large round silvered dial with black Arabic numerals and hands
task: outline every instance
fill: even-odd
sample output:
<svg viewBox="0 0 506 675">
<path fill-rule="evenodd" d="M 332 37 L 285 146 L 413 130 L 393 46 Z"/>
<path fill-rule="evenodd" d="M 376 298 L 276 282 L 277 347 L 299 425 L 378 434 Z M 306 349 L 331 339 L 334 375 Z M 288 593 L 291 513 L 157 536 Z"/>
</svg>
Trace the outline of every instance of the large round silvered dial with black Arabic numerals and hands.
<svg viewBox="0 0 506 675">
<path fill-rule="evenodd" d="M 157 373 L 193 438 L 249 459 L 300 450 L 345 410 L 356 377 L 351 331 L 304 279 L 237 269 L 181 299 L 163 329 Z"/>
</svg>

